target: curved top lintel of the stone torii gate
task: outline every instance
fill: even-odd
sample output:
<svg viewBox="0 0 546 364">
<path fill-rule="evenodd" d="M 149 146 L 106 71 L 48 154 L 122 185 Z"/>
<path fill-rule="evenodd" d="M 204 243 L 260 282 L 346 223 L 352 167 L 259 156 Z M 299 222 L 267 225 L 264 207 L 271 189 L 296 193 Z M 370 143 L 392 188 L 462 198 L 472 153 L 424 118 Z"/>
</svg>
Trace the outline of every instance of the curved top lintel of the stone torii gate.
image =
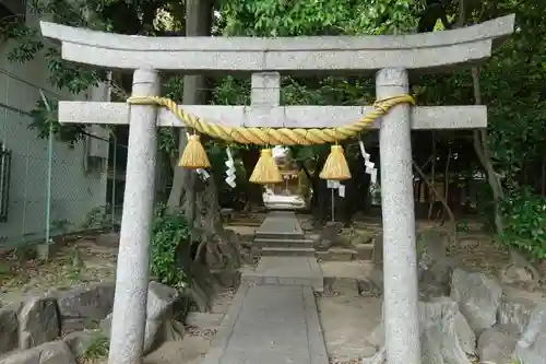
<svg viewBox="0 0 546 364">
<path fill-rule="evenodd" d="M 494 40 L 514 30 L 514 15 L 452 31 L 399 36 L 145 37 L 40 22 L 62 43 L 66 60 L 107 69 L 183 73 L 355 73 L 382 68 L 440 71 L 487 59 Z"/>
</svg>

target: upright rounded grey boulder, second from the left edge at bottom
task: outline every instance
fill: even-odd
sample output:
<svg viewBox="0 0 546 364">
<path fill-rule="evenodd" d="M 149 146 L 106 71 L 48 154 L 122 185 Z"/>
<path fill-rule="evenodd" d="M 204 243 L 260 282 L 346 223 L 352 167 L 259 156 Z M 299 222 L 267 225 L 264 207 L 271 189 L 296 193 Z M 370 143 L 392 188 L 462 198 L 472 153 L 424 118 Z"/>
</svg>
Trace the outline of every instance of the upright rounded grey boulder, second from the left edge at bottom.
<svg viewBox="0 0 546 364">
<path fill-rule="evenodd" d="M 56 340 L 61 333 L 59 310 L 54 297 L 29 297 L 19 313 L 19 348 L 31 349 Z"/>
</svg>

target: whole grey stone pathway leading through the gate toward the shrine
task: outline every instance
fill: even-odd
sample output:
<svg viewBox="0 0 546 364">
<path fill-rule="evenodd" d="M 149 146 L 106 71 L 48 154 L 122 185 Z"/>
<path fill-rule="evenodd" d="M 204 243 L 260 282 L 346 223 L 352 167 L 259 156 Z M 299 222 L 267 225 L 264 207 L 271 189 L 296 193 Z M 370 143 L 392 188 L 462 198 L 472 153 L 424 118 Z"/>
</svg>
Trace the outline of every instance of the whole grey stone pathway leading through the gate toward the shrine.
<svg viewBox="0 0 546 364">
<path fill-rule="evenodd" d="M 256 236 L 278 247 L 304 240 L 293 212 L 272 212 Z M 322 281 L 314 257 L 263 257 L 244 272 L 203 364 L 328 364 L 313 294 Z"/>
</svg>

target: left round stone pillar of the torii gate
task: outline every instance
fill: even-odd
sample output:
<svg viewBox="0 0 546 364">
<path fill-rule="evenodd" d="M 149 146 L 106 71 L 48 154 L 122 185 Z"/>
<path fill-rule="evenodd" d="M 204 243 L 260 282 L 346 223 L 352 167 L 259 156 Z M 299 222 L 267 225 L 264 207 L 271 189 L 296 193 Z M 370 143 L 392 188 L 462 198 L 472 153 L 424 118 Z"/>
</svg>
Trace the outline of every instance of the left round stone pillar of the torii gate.
<svg viewBox="0 0 546 364">
<path fill-rule="evenodd" d="M 132 95 L 159 95 L 157 71 L 135 70 Z M 127 183 L 116 272 L 109 364 L 142 362 L 157 158 L 156 120 L 155 106 L 130 106 Z"/>
</svg>

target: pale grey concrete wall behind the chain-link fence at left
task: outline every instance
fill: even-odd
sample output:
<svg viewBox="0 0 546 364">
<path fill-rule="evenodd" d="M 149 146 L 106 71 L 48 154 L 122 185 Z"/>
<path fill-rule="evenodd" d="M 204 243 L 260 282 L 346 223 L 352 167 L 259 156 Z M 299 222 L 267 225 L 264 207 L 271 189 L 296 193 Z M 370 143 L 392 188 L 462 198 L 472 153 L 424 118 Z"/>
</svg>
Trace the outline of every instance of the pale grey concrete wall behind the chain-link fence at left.
<svg viewBox="0 0 546 364">
<path fill-rule="evenodd" d="M 38 26 L 27 12 L 27 24 Z M 40 98 L 41 89 L 48 98 L 83 99 L 54 89 L 47 81 L 43 55 L 24 64 L 10 63 L 10 44 L 0 45 L 0 141 L 12 151 L 8 221 L 0 222 L 0 247 L 23 239 L 41 239 L 46 230 L 46 180 L 48 142 L 28 129 L 29 111 Z M 106 143 L 107 142 L 103 142 Z M 51 178 L 51 222 L 71 223 L 80 228 L 86 214 L 106 204 L 106 163 L 87 168 L 88 141 L 73 148 L 54 143 Z M 54 232 L 55 234 L 55 232 Z"/>
</svg>

